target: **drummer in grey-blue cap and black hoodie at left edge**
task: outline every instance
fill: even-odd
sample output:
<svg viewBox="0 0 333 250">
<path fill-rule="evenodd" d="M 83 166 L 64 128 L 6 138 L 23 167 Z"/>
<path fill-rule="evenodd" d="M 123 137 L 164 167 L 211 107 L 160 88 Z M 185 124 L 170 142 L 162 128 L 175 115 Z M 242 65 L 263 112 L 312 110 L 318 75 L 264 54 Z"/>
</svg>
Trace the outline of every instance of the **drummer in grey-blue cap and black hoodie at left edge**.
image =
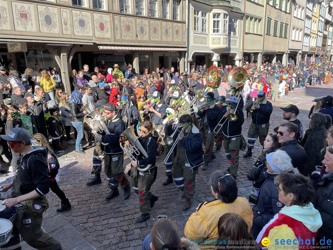
<svg viewBox="0 0 333 250">
<path fill-rule="evenodd" d="M 43 212 L 49 208 L 45 197 L 49 192 L 50 181 L 47 149 L 32 147 L 30 134 L 23 128 L 13 128 L 8 135 L 1 135 L 1 138 L 7 141 L 8 147 L 15 153 L 22 155 L 16 178 L 0 187 L 0 192 L 7 192 L 12 188 L 12 198 L 5 199 L 3 205 L 13 207 L 22 204 L 17 208 L 13 227 L 33 248 L 61 250 L 60 243 L 41 229 Z"/>
</svg>

